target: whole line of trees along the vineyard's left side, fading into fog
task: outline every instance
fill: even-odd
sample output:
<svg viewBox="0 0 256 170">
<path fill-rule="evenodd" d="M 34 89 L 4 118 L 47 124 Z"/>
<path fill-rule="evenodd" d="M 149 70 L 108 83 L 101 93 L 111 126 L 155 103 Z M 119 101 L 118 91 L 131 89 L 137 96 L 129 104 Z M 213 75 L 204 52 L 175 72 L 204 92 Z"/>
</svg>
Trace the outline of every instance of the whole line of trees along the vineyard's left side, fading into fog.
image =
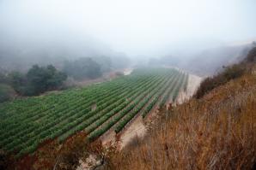
<svg viewBox="0 0 256 170">
<path fill-rule="evenodd" d="M 112 61 L 108 57 L 82 57 L 65 61 L 58 69 L 53 65 L 34 65 L 27 73 L 0 70 L 0 103 L 15 96 L 37 96 L 46 91 L 66 88 L 65 80 L 97 79 L 111 71 Z"/>
</svg>

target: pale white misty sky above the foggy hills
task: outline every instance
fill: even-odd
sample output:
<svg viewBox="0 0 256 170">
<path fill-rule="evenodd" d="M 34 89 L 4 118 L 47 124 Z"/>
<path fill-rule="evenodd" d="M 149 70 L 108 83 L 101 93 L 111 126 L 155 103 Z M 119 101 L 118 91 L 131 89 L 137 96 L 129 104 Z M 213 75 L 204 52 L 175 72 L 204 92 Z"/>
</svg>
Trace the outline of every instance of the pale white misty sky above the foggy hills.
<svg viewBox="0 0 256 170">
<path fill-rule="evenodd" d="M 157 56 L 256 39 L 255 9 L 255 0 L 0 0 L 0 36 Z"/>
</svg>

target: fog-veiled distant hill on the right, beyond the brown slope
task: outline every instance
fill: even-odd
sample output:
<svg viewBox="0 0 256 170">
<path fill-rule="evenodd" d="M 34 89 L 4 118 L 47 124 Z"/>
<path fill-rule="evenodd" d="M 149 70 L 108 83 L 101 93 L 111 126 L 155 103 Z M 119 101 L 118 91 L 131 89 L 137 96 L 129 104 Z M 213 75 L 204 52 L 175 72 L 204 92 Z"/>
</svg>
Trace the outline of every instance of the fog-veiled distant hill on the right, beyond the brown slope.
<svg viewBox="0 0 256 170">
<path fill-rule="evenodd" d="M 168 65 L 183 68 L 200 76 L 213 75 L 220 72 L 222 66 L 241 62 L 249 50 L 256 44 L 232 44 L 201 51 L 192 56 L 162 56 L 151 58 L 149 65 Z"/>
</svg>

